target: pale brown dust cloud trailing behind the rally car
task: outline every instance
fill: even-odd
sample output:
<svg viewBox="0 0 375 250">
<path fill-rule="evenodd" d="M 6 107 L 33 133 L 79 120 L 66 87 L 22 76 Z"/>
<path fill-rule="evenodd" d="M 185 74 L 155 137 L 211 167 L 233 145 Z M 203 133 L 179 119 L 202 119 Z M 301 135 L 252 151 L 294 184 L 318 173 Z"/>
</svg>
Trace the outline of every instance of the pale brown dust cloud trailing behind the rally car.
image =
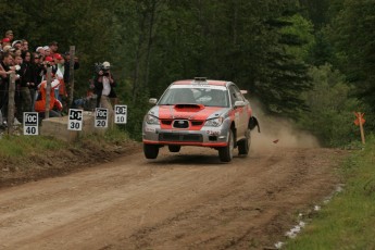
<svg viewBox="0 0 375 250">
<path fill-rule="evenodd" d="M 318 148 L 318 140 L 308 132 L 296 128 L 291 121 L 264 115 L 260 105 L 254 109 L 261 133 L 257 128 L 251 132 L 251 143 L 254 150 L 283 148 Z"/>
</svg>

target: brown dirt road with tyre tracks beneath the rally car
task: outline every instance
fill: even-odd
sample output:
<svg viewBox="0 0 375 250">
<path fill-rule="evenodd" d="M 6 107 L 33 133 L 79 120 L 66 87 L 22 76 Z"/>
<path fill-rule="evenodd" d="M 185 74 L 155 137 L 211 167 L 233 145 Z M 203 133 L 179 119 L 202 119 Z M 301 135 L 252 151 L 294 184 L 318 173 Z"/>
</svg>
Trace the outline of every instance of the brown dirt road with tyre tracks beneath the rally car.
<svg viewBox="0 0 375 250">
<path fill-rule="evenodd" d="M 254 145 L 254 143 L 253 143 Z M 332 193 L 339 150 L 133 153 L 63 177 L 0 189 L 0 249 L 264 249 Z"/>
</svg>

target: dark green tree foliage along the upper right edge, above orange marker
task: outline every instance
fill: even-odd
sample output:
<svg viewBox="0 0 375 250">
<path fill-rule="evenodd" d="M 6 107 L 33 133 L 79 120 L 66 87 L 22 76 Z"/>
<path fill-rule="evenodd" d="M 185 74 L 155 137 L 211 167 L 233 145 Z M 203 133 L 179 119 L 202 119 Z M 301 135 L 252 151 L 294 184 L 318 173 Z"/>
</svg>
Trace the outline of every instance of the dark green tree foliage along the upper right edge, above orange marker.
<svg viewBox="0 0 375 250">
<path fill-rule="evenodd" d="M 375 111 L 375 4 L 373 0 L 336 2 L 337 15 L 327 36 L 335 46 L 334 62 L 355 86 L 357 96 Z M 372 124 L 373 130 L 375 124 Z"/>
</svg>

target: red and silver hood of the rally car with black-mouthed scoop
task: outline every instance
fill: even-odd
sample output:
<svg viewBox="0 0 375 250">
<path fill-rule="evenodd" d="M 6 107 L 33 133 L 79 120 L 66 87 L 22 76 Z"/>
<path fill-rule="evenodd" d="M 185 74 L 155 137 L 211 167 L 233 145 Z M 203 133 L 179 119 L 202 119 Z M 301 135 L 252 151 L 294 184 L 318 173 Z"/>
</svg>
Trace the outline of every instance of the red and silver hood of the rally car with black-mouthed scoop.
<svg viewBox="0 0 375 250">
<path fill-rule="evenodd" d="M 228 110 L 228 108 L 205 107 L 202 104 L 155 105 L 149 111 L 149 114 L 158 116 L 160 120 L 186 118 L 205 121 L 218 117 Z"/>
</svg>

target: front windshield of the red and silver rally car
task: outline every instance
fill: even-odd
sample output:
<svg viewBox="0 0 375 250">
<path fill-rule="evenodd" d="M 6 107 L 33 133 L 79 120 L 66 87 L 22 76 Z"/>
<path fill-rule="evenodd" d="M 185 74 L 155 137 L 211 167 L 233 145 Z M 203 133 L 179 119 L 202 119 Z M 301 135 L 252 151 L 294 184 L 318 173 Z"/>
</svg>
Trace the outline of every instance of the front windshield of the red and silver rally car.
<svg viewBox="0 0 375 250">
<path fill-rule="evenodd" d="M 225 88 L 175 87 L 165 91 L 159 101 L 161 105 L 203 104 L 205 107 L 229 107 Z"/>
</svg>

